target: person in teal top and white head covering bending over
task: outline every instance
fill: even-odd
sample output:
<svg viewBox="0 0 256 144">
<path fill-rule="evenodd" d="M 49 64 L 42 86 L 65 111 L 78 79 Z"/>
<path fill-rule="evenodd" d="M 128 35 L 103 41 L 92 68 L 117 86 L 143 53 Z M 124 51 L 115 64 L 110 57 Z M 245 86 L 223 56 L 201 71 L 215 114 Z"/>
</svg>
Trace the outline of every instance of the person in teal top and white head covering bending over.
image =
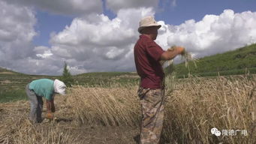
<svg viewBox="0 0 256 144">
<path fill-rule="evenodd" d="M 26 94 L 28 95 L 31 111 L 29 119 L 35 123 L 43 121 L 43 97 L 47 101 L 47 116 L 46 118 L 53 119 L 53 113 L 55 113 L 54 95 L 56 93 L 65 95 L 65 83 L 60 80 L 40 79 L 33 80 L 26 86 Z"/>
</svg>

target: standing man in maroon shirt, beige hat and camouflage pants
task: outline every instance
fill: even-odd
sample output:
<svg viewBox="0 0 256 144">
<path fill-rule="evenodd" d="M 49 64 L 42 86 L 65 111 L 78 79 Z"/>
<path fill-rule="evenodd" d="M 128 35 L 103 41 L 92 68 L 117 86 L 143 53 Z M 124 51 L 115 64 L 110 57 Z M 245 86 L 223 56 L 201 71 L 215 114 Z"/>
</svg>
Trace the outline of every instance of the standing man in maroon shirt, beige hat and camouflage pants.
<svg viewBox="0 0 256 144">
<path fill-rule="evenodd" d="M 134 46 L 134 60 L 140 76 L 138 95 L 143 115 L 141 144 L 157 144 L 161 136 L 164 121 L 164 71 L 160 61 L 170 60 L 184 52 L 181 46 L 164 51 L 155 43 L 160 27 L 153 17 L 144 17 L 138 28 L 140 39 Z"/>
</svg>

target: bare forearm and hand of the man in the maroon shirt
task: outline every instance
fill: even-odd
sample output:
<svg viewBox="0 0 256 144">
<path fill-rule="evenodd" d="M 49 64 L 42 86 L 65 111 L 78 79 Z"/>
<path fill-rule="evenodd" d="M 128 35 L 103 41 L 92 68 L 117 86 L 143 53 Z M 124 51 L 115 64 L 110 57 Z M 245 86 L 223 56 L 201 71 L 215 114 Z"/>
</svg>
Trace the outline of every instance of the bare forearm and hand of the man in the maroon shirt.
<svg viewBox="0 0 256 144">
<path fill-rule="evenodd" d="M 182 54 L 184 52 L 184 47 L 175 46 L 174 49 L 168 49 L 161 54 L 161 60 L 167 61 L 176 57 L 176 55 Z"/>
</svg>

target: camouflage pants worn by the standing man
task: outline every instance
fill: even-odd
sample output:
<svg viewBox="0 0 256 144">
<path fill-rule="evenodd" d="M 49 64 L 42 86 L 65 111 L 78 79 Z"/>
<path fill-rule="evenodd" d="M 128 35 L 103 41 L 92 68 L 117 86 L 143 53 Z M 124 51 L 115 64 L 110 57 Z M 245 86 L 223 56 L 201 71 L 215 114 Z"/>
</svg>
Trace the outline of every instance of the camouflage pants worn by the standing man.
<svg viewBox="0 0 256 144">
<path fill-rule="evenodd" d="M 138 90 L 143 118 L 140 126 L 140 143 L 157 144 L 164 121 L 164 91 L 161 89 Z"/>
</svg>

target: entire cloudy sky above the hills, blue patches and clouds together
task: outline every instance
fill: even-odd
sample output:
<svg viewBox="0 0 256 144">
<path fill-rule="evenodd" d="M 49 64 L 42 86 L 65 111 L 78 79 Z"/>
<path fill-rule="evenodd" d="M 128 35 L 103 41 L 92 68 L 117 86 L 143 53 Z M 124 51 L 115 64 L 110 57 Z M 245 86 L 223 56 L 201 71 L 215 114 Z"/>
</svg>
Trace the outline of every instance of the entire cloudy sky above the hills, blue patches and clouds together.
<svg viewBox="0 0 256 144">
<path fill-rule="evenodd" d="M 24 74 L 136 71 L 143 17 L 162 49 L 195 58 L 256 43 L 255 0 L 0 0 L 0 67 Z M 176 57 L 175 61 L 179 62 Z"/>
</svg>

